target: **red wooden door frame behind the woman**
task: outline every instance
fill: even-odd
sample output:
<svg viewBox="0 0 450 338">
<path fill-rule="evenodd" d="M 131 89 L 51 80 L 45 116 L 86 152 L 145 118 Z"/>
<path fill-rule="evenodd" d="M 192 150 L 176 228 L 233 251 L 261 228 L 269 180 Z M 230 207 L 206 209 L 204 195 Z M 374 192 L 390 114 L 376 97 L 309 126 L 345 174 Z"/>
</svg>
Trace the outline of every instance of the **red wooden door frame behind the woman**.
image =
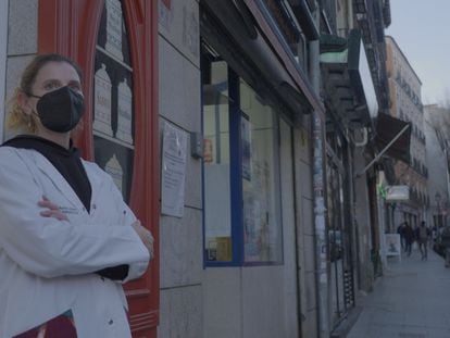
<svg viewBox="0 0 450 338">
<path fill-rule="evenodd" d="M 158 1 L 123 0 L 134 68 L 135 163 L 130 206 L 155 239 L 155 256 L 143 278 L 126 285 L 132 330 L 157 337 L 160 309 L 159 264 L 159 126 L 158 126 Z M 57 52 L 75 60 L 84 71 L 84 129 L 77 141 L 93 159 L 93 62 L 104 0 L 39 0 L 38 52 Z"/>
</svg>

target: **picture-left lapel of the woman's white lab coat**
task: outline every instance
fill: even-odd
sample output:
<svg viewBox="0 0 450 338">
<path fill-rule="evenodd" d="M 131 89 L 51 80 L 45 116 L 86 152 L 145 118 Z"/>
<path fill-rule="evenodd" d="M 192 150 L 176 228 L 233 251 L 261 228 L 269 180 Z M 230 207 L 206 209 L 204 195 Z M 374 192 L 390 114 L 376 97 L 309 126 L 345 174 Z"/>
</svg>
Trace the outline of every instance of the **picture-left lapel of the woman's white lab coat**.
<svg viewBox="0 0 450 338">
<path fill-rule="evenodd" d="M 49 177 L 49 179 L 54 184 L 54 187 L 61 191 L 61 193 L 78 210 L 83 210 L 84 205 L 79 200 L 78 196 L 72 189 L 67 180 L 60 174 L 60 172 L 50 163 L 46 157 L 40 153 L 35 154 L 35 162 L 37 167 Z"/>
</svg>

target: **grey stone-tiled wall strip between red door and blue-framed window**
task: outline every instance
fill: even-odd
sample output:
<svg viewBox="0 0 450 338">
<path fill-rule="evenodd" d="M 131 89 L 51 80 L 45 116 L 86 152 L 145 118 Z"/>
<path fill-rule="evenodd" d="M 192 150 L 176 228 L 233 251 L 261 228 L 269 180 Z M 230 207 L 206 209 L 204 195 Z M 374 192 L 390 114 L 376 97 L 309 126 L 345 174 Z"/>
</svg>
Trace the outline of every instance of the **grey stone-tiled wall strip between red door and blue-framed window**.
<svg viewBox="0 0 450 338">
<path fill-rule="evenodd" d="M 159 1 L 159 113 L 187 133 L 201 132 L 199 5 Z M 190 145 L 190 140 L 188 140 Z M 158 337 L 202 337 L 203 235 L 201 162 L 186 163 L 185 210 L 161 216 L 161 315 Z"/>
</svg>

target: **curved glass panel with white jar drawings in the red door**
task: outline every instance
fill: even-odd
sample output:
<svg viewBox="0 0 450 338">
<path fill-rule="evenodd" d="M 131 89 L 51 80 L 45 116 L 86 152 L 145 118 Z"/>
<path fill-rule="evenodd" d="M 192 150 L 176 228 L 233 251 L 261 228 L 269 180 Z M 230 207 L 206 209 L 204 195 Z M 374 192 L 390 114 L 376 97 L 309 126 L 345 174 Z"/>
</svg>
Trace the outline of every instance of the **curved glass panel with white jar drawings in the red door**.
<svg viewBox="0 0 450 338">
<path fill-rule="evenodd" d="M 107 0 L 96 47 L 93 79 L 95 160 L 129 201 L 134 161 L 133 67 L 123 5 Z"/>
</svg>

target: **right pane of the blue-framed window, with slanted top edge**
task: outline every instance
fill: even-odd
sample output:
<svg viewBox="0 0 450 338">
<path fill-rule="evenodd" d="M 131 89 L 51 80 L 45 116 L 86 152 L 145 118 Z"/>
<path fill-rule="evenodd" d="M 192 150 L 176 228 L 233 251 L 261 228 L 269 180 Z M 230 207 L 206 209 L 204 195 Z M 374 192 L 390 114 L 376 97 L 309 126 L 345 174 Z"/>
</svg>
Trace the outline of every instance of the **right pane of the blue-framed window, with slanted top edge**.
<svg viewBox="0 0 450 338">
<path fill-rule="evenodd" d="M 272 108 L 243 80 L 239 82 L 239 97 L 245 261 L 278 262 L 276 121 Z"/>
</svg>

